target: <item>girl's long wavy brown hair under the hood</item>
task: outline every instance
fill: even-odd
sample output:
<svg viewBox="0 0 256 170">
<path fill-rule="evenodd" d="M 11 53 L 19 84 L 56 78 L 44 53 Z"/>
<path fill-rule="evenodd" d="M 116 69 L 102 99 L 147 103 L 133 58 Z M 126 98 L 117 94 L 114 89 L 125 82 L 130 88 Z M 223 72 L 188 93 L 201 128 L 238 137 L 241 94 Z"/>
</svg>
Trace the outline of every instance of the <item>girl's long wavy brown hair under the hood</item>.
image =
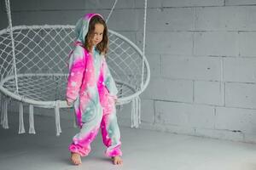
<svg viewBox="0 0 256 170">
<path fill-rule="evenodd" d="M 88 29 L 88 32 L 87 32 L 85 38 L 84 38 L 84 47 L 88 51 L 90 51 L 90 49 L 92 48 L 92 44 L 91 44 L 90 41 L 94 36 L 94 30 L 95 30 L 95 25 L 96 24 L 102 24 L 102 26 L 104 26 L 102 42 L 99 42 L 96 45 L 96 50 L 100 54 L 107 54 L 107 52 L 108 52 L 108 28 L 107 28 L 105 20 L 103 20 L 102 17 L 99 16 L 99 15 L 95 15 L 90 19 L 89 29 Z"/>
</svg>

